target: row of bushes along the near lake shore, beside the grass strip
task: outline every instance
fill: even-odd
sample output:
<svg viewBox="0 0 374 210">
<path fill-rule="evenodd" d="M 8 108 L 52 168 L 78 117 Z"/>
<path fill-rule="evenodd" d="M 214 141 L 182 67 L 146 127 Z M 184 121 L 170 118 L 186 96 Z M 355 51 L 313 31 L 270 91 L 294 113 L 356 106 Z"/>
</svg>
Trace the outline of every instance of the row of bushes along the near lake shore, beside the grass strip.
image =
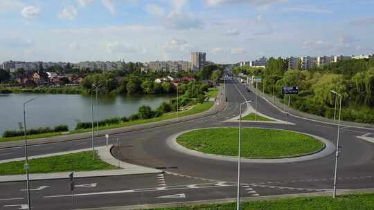
<svg viewBox="0 0 374 210">
<path fill-rule="evenodd" d="M 155 110 L 152 110 L 150 106 L 141 106 L 139 107 L 138 113 L 135 113 L 128 117 L 114 117 L 106 120 L 100 120 L 98 122 L 98 126 L 109 126 L 130 121 L 161 117 L 164 113 L 177 111 L 177 107 L 181 109 L 181 107 L 184 106 L 193 106 L 195 104 L 204 102 L 204 99 L 206 98 L 206 91 L 208 90 L 208 84 L 202 84 L 200 82 L 189 82 L 188 84 L 183 84 L 182 87 L 183 88 L 179 89 L 179 94 L 181 94 L 179 100 L 171 99 L 170 102 L 163 102 Z M 92 122 L 78 122 L 75 130 L 87 129 L 91 127 Z M 96 122 L 94 122 L 94 127 L 96 127 Z"/>
</svg>

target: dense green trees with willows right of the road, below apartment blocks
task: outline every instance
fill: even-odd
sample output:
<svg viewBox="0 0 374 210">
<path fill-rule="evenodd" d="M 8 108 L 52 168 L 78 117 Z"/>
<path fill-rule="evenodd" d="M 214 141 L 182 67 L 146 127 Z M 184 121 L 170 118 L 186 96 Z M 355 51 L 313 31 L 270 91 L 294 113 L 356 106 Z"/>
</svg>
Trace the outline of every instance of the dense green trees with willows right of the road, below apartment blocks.
<svg viewBox="0 0 374 210">
<path fill-rule="evenodd" d="M 300 86 L 291 95 L 291 106 L 306 113 L 334 117 L 336 90 L 343 95 L 342 120 L 374 123 L 374 58 L 349 59 L 314 67 L 311 70 L 287 69 L 287 59 L 269 59 L 265 69 L 235 67 L 235 73 L 262 77 L 261 90 L 283 99 L 282 86 Z M 274 88 L 274 89 L 273 89 Z"/>
</svg>

